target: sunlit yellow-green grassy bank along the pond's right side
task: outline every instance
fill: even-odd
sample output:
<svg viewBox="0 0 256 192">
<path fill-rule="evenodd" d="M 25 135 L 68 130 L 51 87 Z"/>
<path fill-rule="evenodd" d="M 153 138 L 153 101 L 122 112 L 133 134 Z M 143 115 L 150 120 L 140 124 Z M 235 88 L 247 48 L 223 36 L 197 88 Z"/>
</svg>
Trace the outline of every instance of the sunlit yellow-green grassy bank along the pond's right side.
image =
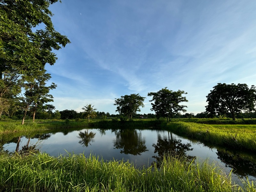
<svg viewBox="0 0 256 192">
<path fill-rule="evenodd" d="M 178 135 L 185 135 L 202 142 L 256 151 L 256 125 L 171 122 L 167 127 Z"/>
</svg>

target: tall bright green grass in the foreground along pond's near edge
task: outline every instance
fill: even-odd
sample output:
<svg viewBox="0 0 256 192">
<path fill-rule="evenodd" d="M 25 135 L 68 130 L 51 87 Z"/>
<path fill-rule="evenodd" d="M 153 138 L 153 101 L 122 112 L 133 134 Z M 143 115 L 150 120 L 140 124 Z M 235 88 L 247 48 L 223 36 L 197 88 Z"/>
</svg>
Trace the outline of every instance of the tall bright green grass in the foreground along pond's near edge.
<svg viewBox="0 0 256 192">
<path fill-rule="evenodd" d="M 152 171 L 153 170 L 153 171 Z M 129 163 L 94 156 L 47 154 L 0 156 L 1 191 L 255 191 L 231 182 L 216 165 L 165 157 L 160 169 L 135 169 Z"/>
</svg>

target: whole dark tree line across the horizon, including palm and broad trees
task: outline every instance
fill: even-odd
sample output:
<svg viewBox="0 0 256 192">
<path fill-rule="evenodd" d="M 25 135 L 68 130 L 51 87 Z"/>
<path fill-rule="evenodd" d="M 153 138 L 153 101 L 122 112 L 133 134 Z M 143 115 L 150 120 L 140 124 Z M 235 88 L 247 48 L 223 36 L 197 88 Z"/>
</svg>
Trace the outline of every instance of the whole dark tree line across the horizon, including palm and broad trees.
<svg viewBox="0 0 256 192">
<path fill-rule="evenodd" d="M 184 91 L 174 92 L 167 89 L 167 87 L 161 89 L 158 92 L 149 92 L 148 96 L 152 96 L 151 110 L 155 112 L 148 114 L 139 114 L 140 107 L 144 107 L 143 101 L 145 97 L 141 97 L 139 94 L 131 94 L 121 96 L 121 98 L 115 99 L 113 105 L 117 106 L 116 112 L 119 114 L 109 114 L 108 112 L 96 111 L 91 104 L 87 104 L 82 108 L 84 112 L 76 112 L 75 110 L 63 110 L 52 112 L 55 109 L 54 106 L 48 105 L 48 108 L 37 111 L 36 115 L 34 110 L 30 111 L 29 118 L 37 119 L 81 119 L 91 118 L 107 119 L 107 118 L 119 118 L 119 119 L 131 119 L 133 118 L 160 118 L 164 117 L 167 121 L 170 118 L 212 118 L 212 117 L 229 117 L 235 120 L 235 118 L 256 118 L 255 102 L 256 93 L 255 86 L 248 88 L 246 84 L 217 84 L 214 89 L 206 96 L 208 105 L 205 112 L 198 114 L 185 113 L 187 106 L 179 105 L 181 102 L 188 102 L 186 97 L 182 94 L 187 94 Z M 221 89 L 221 90 L 220 90 Z M 215 102 L 214 102 L 215 100 Z M 231 101 L 233 103 L 231 103 Z M 180 111 L 185 114 L 181 114 Z M 12 119 L 21 119 L 24 116 L 24 111 L 17 110 L 14 116 L 10 116 Z M 5 116 L 6 117 L 6 116 Z M 235 117 L 235 118 L 234 118 Z"/>
</svg>

